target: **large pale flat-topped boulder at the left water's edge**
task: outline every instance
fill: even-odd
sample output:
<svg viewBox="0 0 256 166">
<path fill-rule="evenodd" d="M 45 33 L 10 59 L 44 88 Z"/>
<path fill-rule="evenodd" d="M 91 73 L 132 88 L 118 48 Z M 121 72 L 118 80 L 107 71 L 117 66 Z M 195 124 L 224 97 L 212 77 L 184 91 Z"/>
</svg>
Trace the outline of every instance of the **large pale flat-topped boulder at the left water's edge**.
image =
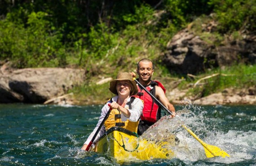
<svg viewBox="0 0 256 166">
<path fill-rule="evenodd" d="M 76 84 L 83 83 L 84 70 L 69 68 L 26 68 L 4 74 L 0 89 L 4 96 L 0 102 L 22 101 L 44 103 L 56 96 L 64 95 Z M 4 88 L 3 88 L 4 87 Z"/>
</svg>

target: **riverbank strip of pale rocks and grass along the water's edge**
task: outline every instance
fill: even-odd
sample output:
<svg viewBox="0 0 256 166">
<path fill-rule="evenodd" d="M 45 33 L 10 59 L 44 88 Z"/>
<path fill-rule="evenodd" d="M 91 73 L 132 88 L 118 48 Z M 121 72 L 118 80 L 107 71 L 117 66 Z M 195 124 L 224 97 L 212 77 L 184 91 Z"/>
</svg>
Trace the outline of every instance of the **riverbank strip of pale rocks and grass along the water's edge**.
<svg viewBox="0 0 256 166">
<path fill-rule="evenodd" d="M 256 66 L 248 68 L 254 70 Z M 244 72 L 240 74 L 246 75 L 246 70 L 252 76 L 240 78 L 241 80 L 237 80 L 240 75 L 234 74 L 233 70 L 233 83 L 227 83 L 228 79 L 221 74 L 199 74 L 193 80 L 189 76 L 157 76 L 152 79 L 163 83 L 167 89 L 166 96 L 173 104 L 189 102 L 198 105 L 256 105 L 255 72 L 252 73 L 252 69 L 248 68 L 244 68 Z M 109 82 L 114 78 L 112 75 L 86 78 L 84 70 L 71 68 L 15 70 L 2 66 L 0 71 L 0 103 L 93 105 L 103 104 L 114 96 L 108 90 Z"/>
</svg>

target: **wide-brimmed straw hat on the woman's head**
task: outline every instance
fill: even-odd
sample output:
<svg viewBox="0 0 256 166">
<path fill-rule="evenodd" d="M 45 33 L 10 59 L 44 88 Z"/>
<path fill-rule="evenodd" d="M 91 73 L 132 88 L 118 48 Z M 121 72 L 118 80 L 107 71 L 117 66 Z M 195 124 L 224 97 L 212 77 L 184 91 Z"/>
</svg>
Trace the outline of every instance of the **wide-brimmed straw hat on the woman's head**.
<svg viewBox="0 0 256 166">
<path fill-rule="evenodd" d="M 136 82 L 133 81 L 132 79 L 132 74 L 128 73 L 128 72 L 120 72 L 117 74 L 116 79 L 110 81 L 110 87 L 109 90 L 118 95 L 117 91 L 116 91 L 116 82 L 117 81 L 121 81 L 121 80 L 128 80 L 130 82 L 130 85 L 132 87 L 130 95 L 135 95 L 138 92 L 138 88 L 136 85 Z"/>
</svg>

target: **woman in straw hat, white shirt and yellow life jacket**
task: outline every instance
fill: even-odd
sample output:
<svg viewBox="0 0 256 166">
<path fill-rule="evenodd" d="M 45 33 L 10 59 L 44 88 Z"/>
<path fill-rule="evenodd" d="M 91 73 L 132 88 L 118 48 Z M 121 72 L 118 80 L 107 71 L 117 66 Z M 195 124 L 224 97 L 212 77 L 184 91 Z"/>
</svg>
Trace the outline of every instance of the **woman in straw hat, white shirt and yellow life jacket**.
<svg viewBox="0 0 256 166">
<path fill-rule="evenodd" d="M 119 73 L 116 79 L 110 82 L 109 90 L 117 96 L 108 100 L 106 105 L 103 106 L 97 126 L 85 141 L 84 146 L 82 147 L 83 150 L 87 148 L 87 145 L 92 140 L 93 135 L 96 133 L 103 118 L 110 109 L 108 104 L 110 104 L 112 110 L 95 140 L 102 136 L 106 130 L 114 126 L 137 132 L 138 119 L 142 113 L 143 102 L 132 96 L 138 92 L 136 82 L 133 81 L 132 75 L 127 72 Z M 116 116 L 117 114 L 119 114 L 119 116 Z"/>
</svg>

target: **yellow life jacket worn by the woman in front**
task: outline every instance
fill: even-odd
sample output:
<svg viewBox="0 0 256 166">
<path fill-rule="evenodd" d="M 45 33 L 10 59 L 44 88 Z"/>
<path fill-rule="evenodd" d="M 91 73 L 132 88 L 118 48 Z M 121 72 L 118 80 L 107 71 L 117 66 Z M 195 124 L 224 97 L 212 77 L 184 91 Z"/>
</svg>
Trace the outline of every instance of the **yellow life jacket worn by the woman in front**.
<svg viewBox="0 0 256 166">
<path fill-rule="evenodd" d="M 132 109 L 130 107 L 131 107 L 131 104 L 132 104 L 134 99 L 135 99 L 135 97 L 132 96 L 131 100 L 129 101 L 130 103 L 128 103 L 129 109 Z M 106 131 L 109 130 L 111 127 L 117 126 L 117 127 L 122 127 L 122 128 L 125 128 L 125 129 L 129 130 L 129 131 L 137 133 L 139 120 L 137 122 L 132 122 L 132 121 L 129 121 L 129 120 L 126 120 L 126 121 L 123 122 L 121 120 L 121 114 L 122 113 L 118 109 L 112 109 L 111 110 L 111 112 L 109 114 L 109 117 L 104 122 L 104 126 L 106 128 Z"/>
</svg>

